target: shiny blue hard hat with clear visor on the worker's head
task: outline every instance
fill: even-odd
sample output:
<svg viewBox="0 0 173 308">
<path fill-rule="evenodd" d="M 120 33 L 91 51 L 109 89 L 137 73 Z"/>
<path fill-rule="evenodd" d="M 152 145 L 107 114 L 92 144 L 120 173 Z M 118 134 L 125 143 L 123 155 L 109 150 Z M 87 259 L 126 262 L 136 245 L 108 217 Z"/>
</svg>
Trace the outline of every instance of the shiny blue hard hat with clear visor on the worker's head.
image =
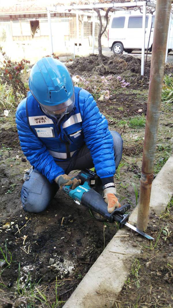
<svg viewBox="0 0 173 308">
<path fill-rule="evenodd" d="M 29 89 L 49 111 L 61 110 L 74 103 L 74 87 L 63 63 L 51 57 L 37 61 L 31 69 Z"/>
</svg>

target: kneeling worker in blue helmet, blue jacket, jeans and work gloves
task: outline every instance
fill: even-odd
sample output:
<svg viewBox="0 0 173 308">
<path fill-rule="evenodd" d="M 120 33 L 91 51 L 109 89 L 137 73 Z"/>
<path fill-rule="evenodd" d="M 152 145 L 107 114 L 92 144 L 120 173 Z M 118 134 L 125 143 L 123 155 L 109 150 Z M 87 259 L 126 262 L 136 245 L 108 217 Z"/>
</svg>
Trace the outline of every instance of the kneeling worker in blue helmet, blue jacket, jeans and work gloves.
<svg viewBox="0 0 173 308">
<path fill-rule="evenodd" d="M 32 165 L 21 191 L 24 209 L 44 211 L 62 185 L 80 184 L 70 171 L 95 167 L 112 213 L 119 207 L 113 176 L 122 156 L 121 136 L 108 130 L 92 95 L 73 86 L 57 59 L 42 58 L 32 67 L 29 89 L 16 111 L 22 151 Z"/>
</svg>

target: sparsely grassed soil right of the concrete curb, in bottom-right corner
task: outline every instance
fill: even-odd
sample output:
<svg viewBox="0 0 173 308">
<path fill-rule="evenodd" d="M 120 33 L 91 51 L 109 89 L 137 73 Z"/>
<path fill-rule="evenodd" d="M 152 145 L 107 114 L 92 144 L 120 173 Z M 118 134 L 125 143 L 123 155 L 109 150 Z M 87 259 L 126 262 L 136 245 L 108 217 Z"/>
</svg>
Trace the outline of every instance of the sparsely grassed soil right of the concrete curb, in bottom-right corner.
<svg viewBox="0 0 173 308">
<path fill-rule="evenodd" d="M 157 239 L 153 245 L 135 240 L 143 250 L 134 260 L 130 277 L 123 290 L 115 298 L 114 308 L 173 307 L 173 203 L 161 217 L 154 213 L 150 217 L 149 230 Z M 169 211 L 169 213 L 168 213 Z M 170 232 L 169 236 L 163 231 Z M 167 233 L 168 234 L 168 233 Z M 155 245 L 156 244 L 156 245 Z"/>
</svg>

